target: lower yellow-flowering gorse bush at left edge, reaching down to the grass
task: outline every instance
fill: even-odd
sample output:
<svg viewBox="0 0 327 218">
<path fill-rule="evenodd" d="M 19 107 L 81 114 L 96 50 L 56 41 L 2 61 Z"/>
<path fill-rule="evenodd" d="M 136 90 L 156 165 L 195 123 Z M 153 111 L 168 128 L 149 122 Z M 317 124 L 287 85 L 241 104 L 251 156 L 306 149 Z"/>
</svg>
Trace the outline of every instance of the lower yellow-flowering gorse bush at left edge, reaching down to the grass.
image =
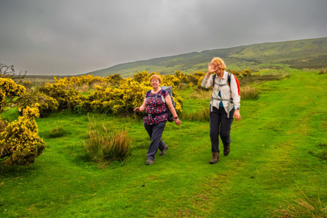
<svg viewBox="0 0 327 218">
<path fill-rule="evenodd" d="M 27 166 L 34 163 L 42 154 L 44 141 L 38 135 L 34 117 L 39 116 L 38 103 L 27 107 L 18 120 L 8 124 L 5 131 L 0 132 L 0 159 L 7 165 Z"/>
</svg>

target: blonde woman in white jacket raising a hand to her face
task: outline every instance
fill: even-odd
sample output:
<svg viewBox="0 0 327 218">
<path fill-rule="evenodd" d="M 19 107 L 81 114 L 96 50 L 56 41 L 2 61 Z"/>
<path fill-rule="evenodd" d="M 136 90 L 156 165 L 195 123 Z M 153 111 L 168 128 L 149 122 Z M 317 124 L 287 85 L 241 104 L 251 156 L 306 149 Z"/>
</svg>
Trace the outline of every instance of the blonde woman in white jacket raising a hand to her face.
<svg viewBox="0 0 327 218">
<path fill-rule="evenodd" d="M 209 113 L 211 152 L 213 153 L 210 163 L 219 161 L 219 135 L 223 142 L 224 155 L 227 156 L 229 154 L 231 123 L 234 117 L 237 122 L 241 119 L 241 98 L 238 93 L 236 80 L 231 75 L 230 84 L 228 84 L 229 73 L 224 69 L 226 69 L 225 62 L 221 58 L 214 58 L 208 64 L 208 72 L 201 82 L 203 88 L 214 87 Z"/>
</svg>

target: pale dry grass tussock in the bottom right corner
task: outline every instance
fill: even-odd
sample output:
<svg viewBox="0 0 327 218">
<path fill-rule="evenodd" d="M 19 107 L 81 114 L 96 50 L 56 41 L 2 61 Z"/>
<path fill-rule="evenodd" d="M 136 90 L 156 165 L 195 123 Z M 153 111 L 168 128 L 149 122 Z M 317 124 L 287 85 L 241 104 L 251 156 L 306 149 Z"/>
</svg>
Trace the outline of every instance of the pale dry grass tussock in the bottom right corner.
<svg viewBox="0 0 327 218">
<path fill-rule="evenodd" d="M 306 196 L 305 196 L 306 197 Z M 299 199 L 281 205 L 279 209 L 271 209 L 267 217 L 289 218 L 289 217 L 316 217 L 327 218 L 327 204 L 322 204 L 319 197 L 309 200 Z"/>
</svg>

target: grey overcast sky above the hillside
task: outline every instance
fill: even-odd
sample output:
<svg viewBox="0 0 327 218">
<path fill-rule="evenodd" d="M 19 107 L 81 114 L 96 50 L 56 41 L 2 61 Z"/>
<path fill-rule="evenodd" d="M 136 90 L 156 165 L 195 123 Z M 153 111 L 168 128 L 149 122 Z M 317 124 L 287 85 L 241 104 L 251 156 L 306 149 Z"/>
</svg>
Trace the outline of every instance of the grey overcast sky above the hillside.
<svg viewBox="0 0 327 218">
<path fill-rule="evenodd" d="M 0 63 L 29 75 L 327 37 L 327 0 L 0 0 Z"/>
</svg>

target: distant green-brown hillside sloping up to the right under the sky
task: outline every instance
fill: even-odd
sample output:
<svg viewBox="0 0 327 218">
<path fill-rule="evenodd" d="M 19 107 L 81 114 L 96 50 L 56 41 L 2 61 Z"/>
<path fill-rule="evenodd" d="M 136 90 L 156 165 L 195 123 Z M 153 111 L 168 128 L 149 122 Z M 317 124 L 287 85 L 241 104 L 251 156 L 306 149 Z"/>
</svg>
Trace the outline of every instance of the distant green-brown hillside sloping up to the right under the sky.
<svg viewBox="0 0 327 218">
<path fill-rule="evenodd" d="M 229 49 L 216 49 L 203 52 L 155 58 L 145 61 L 136 61 L 118 64 L 106 69 L 89 72 L 94 76 L 108 76 L 120 74 L 124 78 L 132 77 L 135 72 L 146 70 L 173 74 L 176 70 L 191 74 L 197 70 L 206 70 L 207 63 L 213 57 L 221 57 L 227 68 L 240 70 L 251 68 L 325 68 L 327 67 L 327 37 L 318 39 L 303 39 L 285 42 L 269 42 L 244 45 Z"/>
</svg>

